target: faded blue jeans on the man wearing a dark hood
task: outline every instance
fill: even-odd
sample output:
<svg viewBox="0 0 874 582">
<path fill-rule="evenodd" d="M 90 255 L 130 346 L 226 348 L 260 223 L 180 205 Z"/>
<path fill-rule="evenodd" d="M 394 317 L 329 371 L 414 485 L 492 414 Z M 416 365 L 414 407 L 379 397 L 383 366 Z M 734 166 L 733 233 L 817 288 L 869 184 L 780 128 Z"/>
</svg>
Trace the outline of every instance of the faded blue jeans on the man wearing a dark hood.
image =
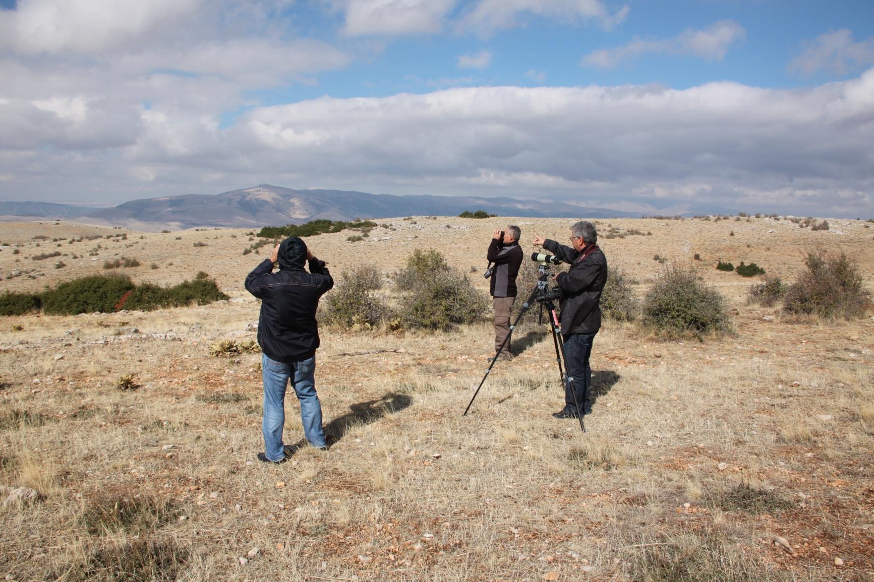
<svg viewBox="0 0 874 582">
<path fill-rule="evenodd" d="M 303 434 L 313 447 L 324 447 L 322 430 L 322 403 L 316 394 L 316 357 L 283 364 L 261 357 L 261 375 L 264 378 L 264 454 L 270 461 L 281 461 L 285 456 L 282 427 L 285 425 L 285 389 L 291 380 L 297 399 L 301 401 Z"/>
</svg>

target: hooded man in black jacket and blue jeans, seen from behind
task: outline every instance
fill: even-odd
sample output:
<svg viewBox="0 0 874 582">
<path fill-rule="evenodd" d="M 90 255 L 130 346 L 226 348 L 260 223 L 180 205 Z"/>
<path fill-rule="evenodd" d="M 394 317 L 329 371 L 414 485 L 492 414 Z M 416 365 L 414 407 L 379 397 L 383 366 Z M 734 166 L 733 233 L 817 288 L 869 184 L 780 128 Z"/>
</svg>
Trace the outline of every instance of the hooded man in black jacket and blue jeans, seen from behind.
<svg viewBox="0 0 874 582">
<path fill-rule="evenodd" d="M 309 260 L 309 273 L 303 268 Z M 273 273 L 279 262 L 279 272 Z M 258 343 L 261 375 L 264 378 L 264 453 L 259 461 L 286 461 L 282 443 L 285 425 L 285 390 L 288 380 L 301 401 L 303 434 L 313 447 L 324 449 L 322 404 L 316 394 L 316 349 L 319 331 L 316 308 L 319 298 L 334 287 L 334 280 L 323 260 L 318 260 L 306 244 L 289 237 L 274 248 L 246 277 L 246 290 L 261 300 Z"/>
</svg>

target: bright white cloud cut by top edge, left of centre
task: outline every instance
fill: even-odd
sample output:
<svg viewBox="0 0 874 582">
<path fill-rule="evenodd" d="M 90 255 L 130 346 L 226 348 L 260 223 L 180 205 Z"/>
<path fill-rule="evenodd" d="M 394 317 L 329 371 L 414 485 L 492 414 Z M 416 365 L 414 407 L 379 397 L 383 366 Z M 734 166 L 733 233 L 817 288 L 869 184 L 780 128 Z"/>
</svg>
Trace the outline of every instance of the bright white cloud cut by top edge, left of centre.
<svg viewBox="0 0 874 582">
<path fill-rule="evenodd" d="M 439 32 L 458 0 L 335 0 L 345 11 L 344 31 L 357 35 Z"/>
</svg>

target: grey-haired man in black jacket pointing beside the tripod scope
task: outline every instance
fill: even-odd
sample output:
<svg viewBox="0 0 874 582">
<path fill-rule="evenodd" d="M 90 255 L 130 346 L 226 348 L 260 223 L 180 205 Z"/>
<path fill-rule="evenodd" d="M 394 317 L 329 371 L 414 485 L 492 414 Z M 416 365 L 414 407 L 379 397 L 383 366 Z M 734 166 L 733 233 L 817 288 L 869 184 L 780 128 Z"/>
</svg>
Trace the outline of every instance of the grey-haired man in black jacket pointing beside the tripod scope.
<svg viewBox="0 0 874 582">
<path fill-rule="evenodd" d="M 573 247 L 534 235 L 535 246 L 543 246 L 558 259 L 571 264 L 566 273 L 558 273 L 552 278 L 564 295 L 558 306 L 568 376 L 565 407 L 552 415 L 557 419 L 575 419 L 580 413 L 592 412 L 589 357 L 595 334 L 600 329 L 600 294 L 607 283 L 607 258 L 598 248 L 597 241 L 595 225 L 586 221 L 572 225 Z M 577 408 L 578 402 L 583 407 L 582 412 Z"/>
</svg>

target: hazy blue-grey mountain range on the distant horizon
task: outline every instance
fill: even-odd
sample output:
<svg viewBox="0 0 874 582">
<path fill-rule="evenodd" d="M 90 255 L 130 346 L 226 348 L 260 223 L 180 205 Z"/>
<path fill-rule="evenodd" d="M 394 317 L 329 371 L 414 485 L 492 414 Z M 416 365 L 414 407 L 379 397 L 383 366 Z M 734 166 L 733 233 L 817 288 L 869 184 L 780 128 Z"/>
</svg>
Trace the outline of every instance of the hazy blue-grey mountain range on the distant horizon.
<svg viewBox="0 0 874 582">
<path fill-rule="evenodd" d="M 61 213 L 66 209 L 66 213 Z M 483 210 L 499 216 L 542 218 L 634 218 L 640 213 L 584 208 L 558 202 L 510 197 L 393 196 L 338 190 L 292 190 L 260 184 L 216 195 L 145 198 L 114 208 L 87 209 L 71 204 L 0 202 L 0 214 L 80 218 L 81 221 L 126 225 L 149 230 L 158 226 L 260 227 L 302 224 L 316 218 L 393 218 L 403 216 L 457 216 Z"/>
</svg>

